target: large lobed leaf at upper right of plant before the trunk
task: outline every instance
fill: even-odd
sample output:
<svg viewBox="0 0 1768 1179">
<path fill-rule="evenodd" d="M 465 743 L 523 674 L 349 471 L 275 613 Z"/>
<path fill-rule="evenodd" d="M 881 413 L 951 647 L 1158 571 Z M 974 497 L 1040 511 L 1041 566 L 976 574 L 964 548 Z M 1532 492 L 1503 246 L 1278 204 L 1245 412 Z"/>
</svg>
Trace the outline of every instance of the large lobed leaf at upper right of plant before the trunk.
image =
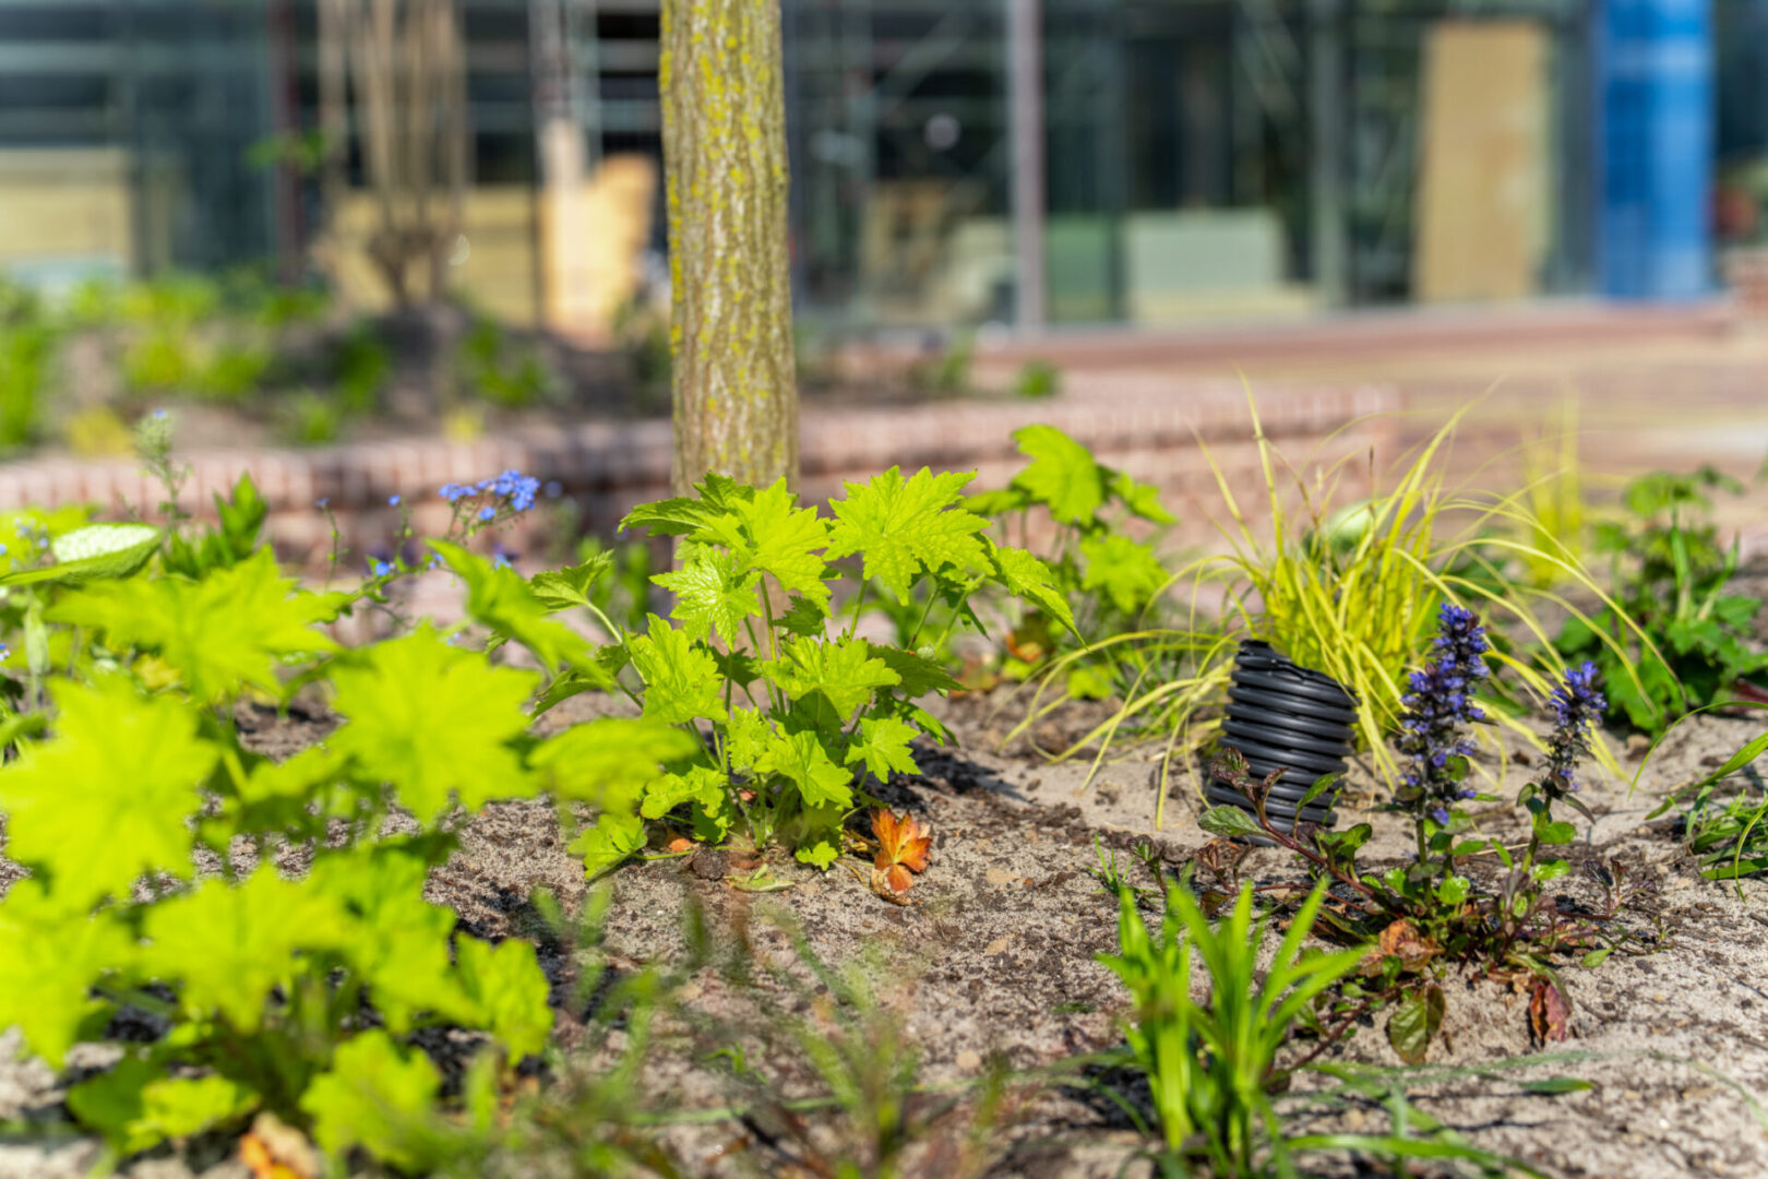
<svg viewBox="0 0 1768 1179">
<path fill-rule="evenodd" d="M 930 474 L 925 467 L 909 479 L 896 467 L 870 483 L 849 483 L 847 497 L 829 504 L 836 525 L 829 530 L 831 560 L 863 553 L 865 576 L 877 578 L 898 603 L 919 571 L 988 569 L 988 553 L 976 536 L 988 521 L 955 507 L 964 498 L 971 474 Z"/>
</svg>

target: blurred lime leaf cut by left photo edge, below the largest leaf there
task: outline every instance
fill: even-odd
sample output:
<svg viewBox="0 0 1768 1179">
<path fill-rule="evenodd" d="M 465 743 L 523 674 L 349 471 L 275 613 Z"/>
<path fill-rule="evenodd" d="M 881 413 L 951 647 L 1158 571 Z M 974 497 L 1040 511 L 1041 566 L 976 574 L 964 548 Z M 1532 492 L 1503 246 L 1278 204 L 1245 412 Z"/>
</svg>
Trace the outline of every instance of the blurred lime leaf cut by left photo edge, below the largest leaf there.
<svg viewBox="0 0 1768 1179">
<path fill-rule="evenodd" d="M 134 940 L 111 910 L 87 916 L 19 880 L 0 900 L 0 1027 L 18 1027 L 30 1050 L 60 1068 L 81 1025 L 108 1002 L 94 983 L 133 962 Z"/>
</svg>

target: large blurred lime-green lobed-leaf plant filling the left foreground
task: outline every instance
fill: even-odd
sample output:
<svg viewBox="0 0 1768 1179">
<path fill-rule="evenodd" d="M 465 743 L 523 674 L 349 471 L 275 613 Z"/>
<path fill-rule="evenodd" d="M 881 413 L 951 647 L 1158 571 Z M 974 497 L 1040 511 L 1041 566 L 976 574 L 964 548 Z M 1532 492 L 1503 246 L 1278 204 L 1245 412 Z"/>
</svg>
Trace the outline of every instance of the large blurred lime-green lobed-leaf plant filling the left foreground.
<svg viewBox="0 0 1768 1179">
<path fill-rule="evenodd" d="M 433 1170 L 552 1027 L 534 946 L 472 939 L 423 898 L 456 817 L 541 795 L 599 806 L 695 742 L 649 719 L 536 741 L 543 677 L 430 624 L 339 649 L 325 624 L 375 583 L 302 590 L 258 541 L 249 481 L 217 507 L 207 529 L 7 521 L 0 813 L 30 875 L 0 900 L 0 1025 L 51 1066 L 76 1041 L 120 1045 L 67 1098 L 113 1158 L 272 1115 L 334 1160 Z M 437 548 L 481 626 L 543 666 L 591 658 L 520 576 Z M 338 728 L 285 762 L 255 753 L 237 707 L 295 691 L 320 693 Z M 433 1025 L 479 1034 L 458 1092 L 414 1043 Z"/>
</svg>

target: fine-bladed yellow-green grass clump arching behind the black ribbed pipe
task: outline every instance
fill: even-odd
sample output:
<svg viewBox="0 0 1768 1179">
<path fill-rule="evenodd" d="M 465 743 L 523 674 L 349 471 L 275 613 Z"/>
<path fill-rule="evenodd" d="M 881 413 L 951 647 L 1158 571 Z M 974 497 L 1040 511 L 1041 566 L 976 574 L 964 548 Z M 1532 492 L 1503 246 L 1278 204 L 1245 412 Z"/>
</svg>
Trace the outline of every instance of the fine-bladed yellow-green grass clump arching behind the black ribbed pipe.
<svg viewBox="0 0 1768 1179">
<path fill-rule="evenodd" d="M 1170 628 L 1107 636 L 1057 659 L 1040 691 L 1063 684 L 1061 677 L 1082 659 L 1107 652 L 1126 659 L 1119 652 L 1130 649 L 1139 666 L 1170 672 L 1132 684 L 1121 707 L 1059 758 L 1091 749 L 1096 769 L 1107 748 L 1123 735 L 1163 741 L 1158 825 L 1174 755 L 1206 749 L 1215 741 L 1234 652 L 1241 642 L 1259 640 L 1299 666 L 1330 675 L 1356 696 L 1356 744 L 1374 772 L 1398 787 L 1404 753 L 1391 748 L 1388 737 L 1407 709 L 1407 670 L 1434 656 L 1444 603 L 1505 622 L 1515 642 L 1496 642 L 1483 654 L 1492 668 L 1506 673 L 1508 695 L 1519 700 L 1547 700 L 1566 666 L 1536 617 L 1536 603 L 1552 603 L 1574 620 L 1588 620 L 1561 592 L 1565 589 L 1588 594 L 1600 603 L 1602 617 L 1614 619 L 1612 633 L 1602 631 L 1589 640 L 1618 656 L 1619 672 L 1611 672 L 1611 679 L 1637 679 L 1623 642 L 1637 635 L 1637 626 L 1589 578 L 1577 555 L 1549 536 L 1524 497 L 1446 483 L 1441 458 L 1453 440 L 1459 414 L 1409 454 L 1391 479 L 1370 470 L 1368 481 L 1379 484 L 1376 493 L 1347 504 L 1342 491 L 1356 477 L 1353 461 L 1358 456 L 1292 465 L 1264 435 L 1257 407 L 1250 399 L 1248 405 L 1264 490 L 1257 502 L 1243 504 L 1215 453 L 1199 442 L 1220 491 L 1213 523 L 1229 551 L 1179 567 L 1156 590 L 1156 599 L 1185 594 L 1190 599 L 1186 617 Z M 1556 589 L 1536 587 L 1533 571 L 1542 567 L 1556 571 Z M 1013 735 L 1027 728 L 1040 709 L 1034 700 Z M 1490 719 L 1494 726 L 1538 742 L 1513 712 L 1512 707 L 1494 709 Z M 1600 742 L 1593 755 L 1618 771 Z"/>
</svg>

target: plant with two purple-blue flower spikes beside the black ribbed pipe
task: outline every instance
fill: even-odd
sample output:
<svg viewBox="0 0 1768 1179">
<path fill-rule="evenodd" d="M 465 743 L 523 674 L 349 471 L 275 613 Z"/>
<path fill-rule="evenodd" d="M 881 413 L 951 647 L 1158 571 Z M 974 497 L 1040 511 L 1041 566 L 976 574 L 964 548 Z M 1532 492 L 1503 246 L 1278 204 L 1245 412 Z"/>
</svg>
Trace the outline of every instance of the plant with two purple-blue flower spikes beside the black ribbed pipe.
<svg viewBox="0 0 1768 1179">
<path fill-rule="evenodd" d="M 1503 840 L 1473 831 L 1464 804 L 1499 801 L 1469 785 L 1471 726 L 1487 723 L 1476 696 L 1490 675 L 1489 650 L 1480 619 L 1446 603 L 1437 613 L 1425 665 L 1407 681 L 1393 737 L 1402 776 L 1391 808 L 1414 822 L 1418 850 L 1411 863 L 1376 871 L 1361 868 L 1356 854 L 1372 836 L 1367 822 L 1344 831 L 1275 825 L 1264 802 L 1276 778 L 1252 781 L 1245 758 L 1234 749 L 1223 751 L 1211 772 L 1239 787 L 1255 813 L 1220 806 L 1200 818 L 1213 834 L 1257 836 L 1287 848 L 1315 880 L 1331 880 L 1342 903 L 1322 910 L 1322 923 L 1349 940 L 1377 940 L 1381 947 L 1379 955 L 1370 955 L 1361 977 L 1340 988 L 1338 1002 L 1345 1013 L 1395 1008 L 1388 1036 L 1409 1062 L 1423 1059 L 1441 1022 L 1441 979 L 1450 963 L 1526 977 L 1533 990 L 1552 992 L 1552 1002 L 1568 1009 L 1570 999 L 1551 965 L 1556 955 L 1581 955 L 1586 965 L 1597 965 L 1619 947 L 1628 953 L 1653 947 L 1650 935 L 1630 932 L 1619 919 L 1637 891 L 1625 884 L 1621 864 L 1591 863 L 1591 877 L 1605 891 L 1595 912 L 1561 912 L 1545 887 L 1566 875 L 1568 866 L 1563 859 L 1543 859 L 1542 848 L 1577 838 L 1570 822 L 1554 817 L 1554 808 L 1565 804 L 1589 813 L 1577 799 L 1579 767 L 1593 755 L 1593 726 L 1607 709 L 1595 665 L 1566 670 L 1547 700 L 1552 728 L 1543 742 L 1545 755 L 1517 795 L 1531 827 L 1526 854 L 1519 857 Z M 1322 780 L 1312 794 L 1328 787 L 1330 780 Z M 1220 879 L 1222 871 L 1211 866 L 1220 859 L 1200 856 L 1199 863 Z M 1469 871 L 1457 871 L 1457 861 Z M 1485 861 L 1485 871 L 1473 868 L 1476 861 Z M 1501 871 L 1494 875 L 1494 868 Z"/>
</svg>

